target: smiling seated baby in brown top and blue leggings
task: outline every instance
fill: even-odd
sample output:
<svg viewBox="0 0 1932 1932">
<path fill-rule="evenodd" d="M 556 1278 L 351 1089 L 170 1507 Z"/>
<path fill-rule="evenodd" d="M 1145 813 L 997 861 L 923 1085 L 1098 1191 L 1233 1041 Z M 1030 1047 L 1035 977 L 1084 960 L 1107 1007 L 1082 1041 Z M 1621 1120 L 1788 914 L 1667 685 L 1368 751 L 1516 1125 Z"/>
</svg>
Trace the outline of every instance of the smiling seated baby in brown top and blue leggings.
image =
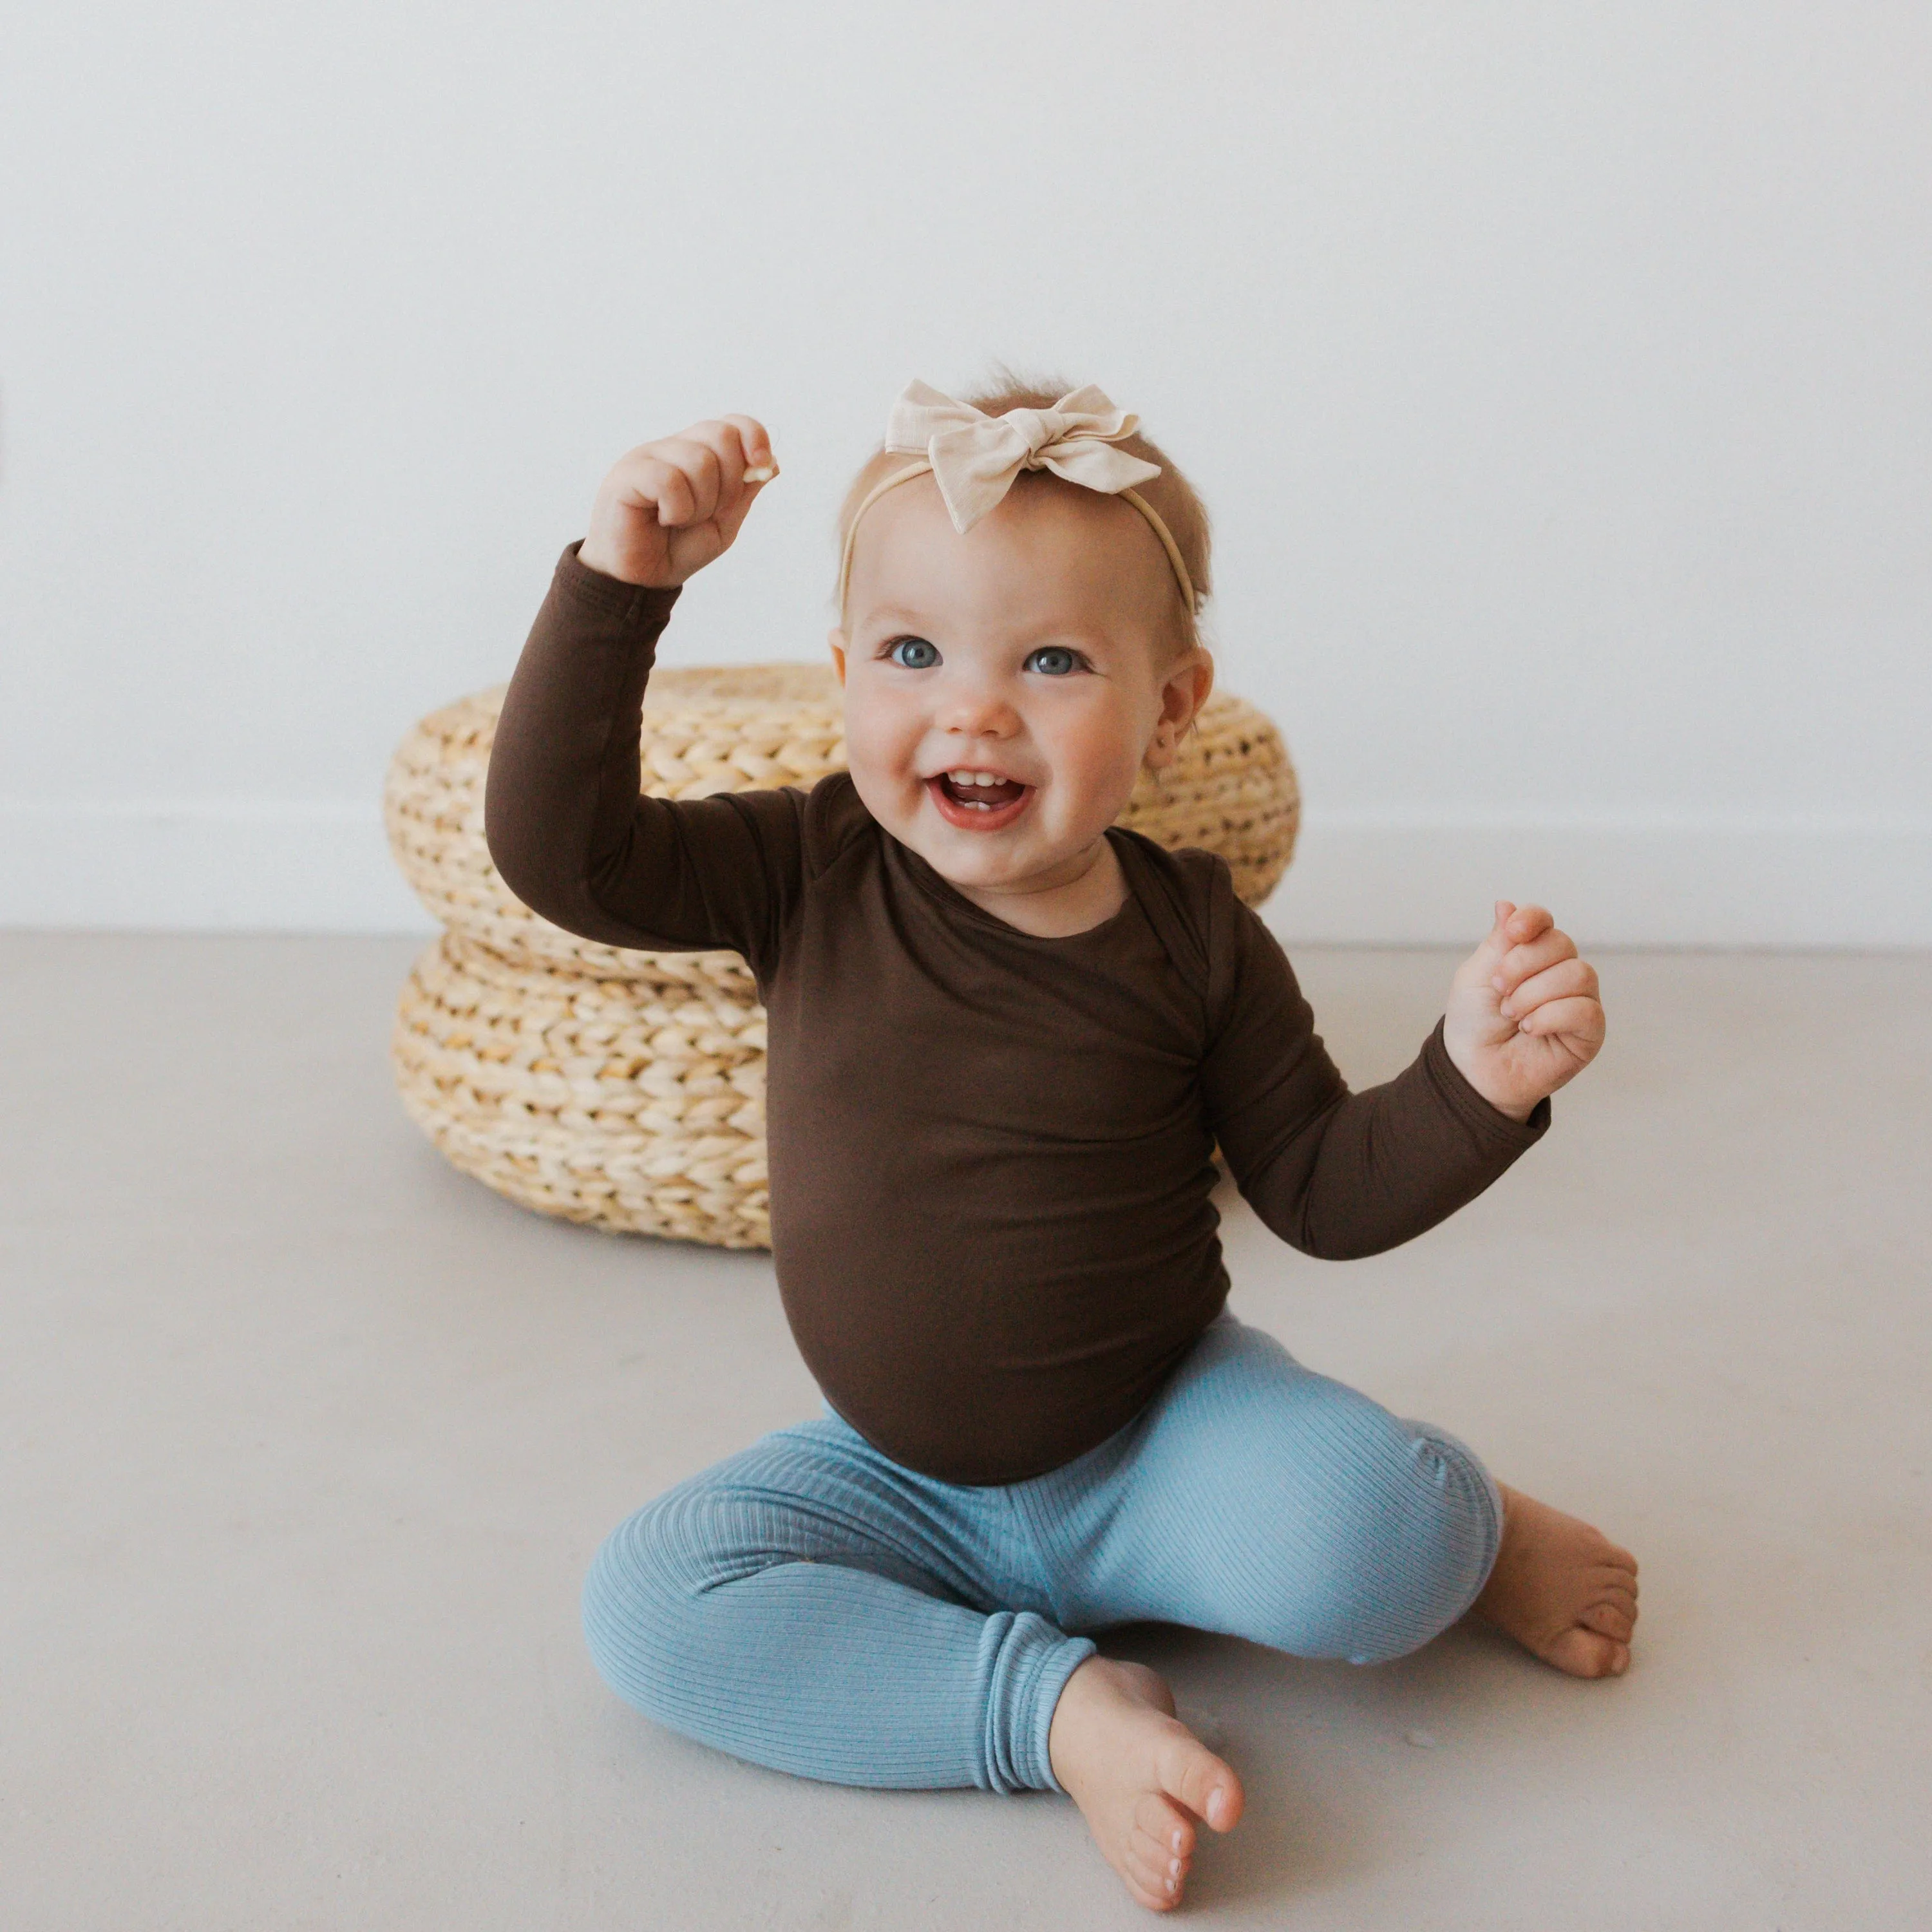
<svg viewBox="0 0 1932 1932">
<path fill-rule="evenodd" d="M 1063 1791 L 1165 1911 L 1240 1777 L 1082 1633 L 1370 1663 L 1474 1609 L 1629 1667 L 1636 1561 L 1236 1321 L 1209 1200 L 1219 1146 L 1296 1248 L 1420 1235 L 1546 1130 L 1596 974 L 1499 902 L 1414 1065 L 1350 1094 L 1227 866 L 1115 827 L 1213 682 L 1208 520 L 1095 388 L 912 384 L 842 516 L 850 773 L 639 798 L 678 585 L 775 475 L 746 415 L 616 464 L 489 771 L 537 912 L 757 974 L 773 1254 L 827 1397 L 624 1522 L 585 1633 L 639 1710 L 759 1764 Z"/>
</svg>

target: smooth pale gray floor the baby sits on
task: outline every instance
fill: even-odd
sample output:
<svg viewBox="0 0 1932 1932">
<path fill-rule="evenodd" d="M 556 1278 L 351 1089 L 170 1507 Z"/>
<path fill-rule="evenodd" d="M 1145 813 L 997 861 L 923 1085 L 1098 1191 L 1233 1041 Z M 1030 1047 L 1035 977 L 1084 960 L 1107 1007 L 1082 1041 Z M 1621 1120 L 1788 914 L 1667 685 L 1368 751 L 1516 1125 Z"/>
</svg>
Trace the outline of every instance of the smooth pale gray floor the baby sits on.
<svg viewBox="0 0 1932 1932">
<path fill-rule="evenodd" d="M 417 1140 L 410 951 L 0 937 L 0 1918 L 1146 1924 L 1061 1799 L 794 1781 L 603 1690 L 599 1536 L 815 1393 L 765 1258 L 533 1219 Z M 1449 972 L 1298 964 L 1358 1080 Z M 1932 958 L 1604 985 L 1604 1061 L 1451 1225 L 1331 1267 L 1231 1204 L 1229 1246 L 1244 1320 L 1638 1551 L 1636 1667 L 1117 1633 L 1250 1781 L 1204 1922 L 1932 1922 Z"/>
</svg>

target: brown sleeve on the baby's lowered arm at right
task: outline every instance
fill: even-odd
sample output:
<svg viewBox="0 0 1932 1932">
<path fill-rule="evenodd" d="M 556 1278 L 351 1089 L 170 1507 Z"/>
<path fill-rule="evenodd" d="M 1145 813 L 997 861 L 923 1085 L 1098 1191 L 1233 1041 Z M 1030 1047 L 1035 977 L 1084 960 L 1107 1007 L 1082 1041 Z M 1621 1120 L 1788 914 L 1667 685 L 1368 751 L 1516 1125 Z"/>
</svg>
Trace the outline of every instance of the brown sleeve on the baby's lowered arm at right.
<svg viewBox="0 0 1932 1932">
<path fill-rule="evenodd" d="M 1549 1101 L 1524 1122 L 1499 1113 L 1449 1059 L 1439 1022 L 1408 1068 L 1350 1094 L 1275 937 L 1238 902 L 1217 912 L 1209 1122 L 1240 1192 L 1283 1240 L 1323 1260 L 1395 1248 L 1542 1138 Z"/>
</svg>

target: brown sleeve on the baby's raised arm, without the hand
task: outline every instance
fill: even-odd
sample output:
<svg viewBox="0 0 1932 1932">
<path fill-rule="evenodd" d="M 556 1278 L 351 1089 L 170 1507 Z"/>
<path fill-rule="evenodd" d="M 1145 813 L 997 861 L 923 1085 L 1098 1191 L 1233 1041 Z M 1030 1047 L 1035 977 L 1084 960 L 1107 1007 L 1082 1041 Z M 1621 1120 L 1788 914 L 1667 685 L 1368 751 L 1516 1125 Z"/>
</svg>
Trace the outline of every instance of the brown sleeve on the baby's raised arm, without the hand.
<svg viewBox="0 0 1932 1932">
<path fill-rule="evenodd" d="M 676 601 L 564 551 L 497 723 L 485 835 L 510 891 L 568 931 L 730 949 L 763 972 L 804 864 L 804 796 L 638 796 L 643 690 Z"/>
</svg>

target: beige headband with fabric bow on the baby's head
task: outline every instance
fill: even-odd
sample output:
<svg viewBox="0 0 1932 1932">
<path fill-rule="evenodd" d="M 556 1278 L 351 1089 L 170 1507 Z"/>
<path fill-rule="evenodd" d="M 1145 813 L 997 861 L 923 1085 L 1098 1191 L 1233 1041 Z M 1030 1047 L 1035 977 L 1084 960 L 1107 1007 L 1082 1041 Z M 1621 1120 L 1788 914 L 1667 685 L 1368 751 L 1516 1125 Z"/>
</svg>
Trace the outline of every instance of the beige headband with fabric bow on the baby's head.
<svg viewBox="0 0 1932 1932">
<path fill-rule="evenodd" d="M 1146 464 L 1113 446 L 1121 437 L 1130 437 L 1138 425 L 1138 415 L 1117 410 L 1092 383 L 1070 396 L 1061 396 L 1051 410 L 1009 410 L 1005 415 L 987 415 L 968 402 L 954 402 L 929 383 L 908 383 L 893 404 L 893 417 L 885 425 L 885 446 L 923 460 L 881 477 L 852 512 L 844 554 L 838 558 L 840 614 L 844 614 L 852 539 L 858 535 L 860 518 L 889 489 L 931 471 L 952 527 L 964 537 L 1012 489 L 1012 479 L 1022 469 L 1051 469 L 1068 483 L 1130 502 L 1161 539 L 1167 562 L 1175 568 L 1175 582 L 1180 585 L 1180 601 L 1190 614 L 1196 612 L 1200 599 L 1194 595 L 1194 580 L 1180 556 L 1180 545 L 1161 522 L 1159 510 L 1134 489 L 1136 483 L 1157 477 L 1161 466 Z"/>
</svg>

